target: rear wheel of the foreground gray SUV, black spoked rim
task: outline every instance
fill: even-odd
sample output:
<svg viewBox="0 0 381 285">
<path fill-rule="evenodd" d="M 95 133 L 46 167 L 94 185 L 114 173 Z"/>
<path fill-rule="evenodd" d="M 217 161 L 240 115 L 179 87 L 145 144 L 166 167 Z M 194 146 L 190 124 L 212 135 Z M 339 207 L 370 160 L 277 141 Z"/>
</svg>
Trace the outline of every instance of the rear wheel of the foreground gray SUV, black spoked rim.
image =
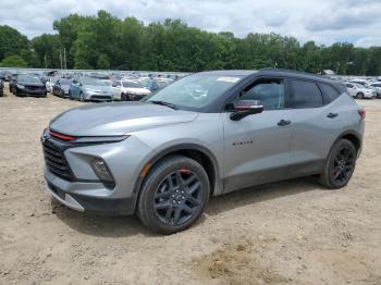
<svg viewBox="0 0 381 285">
<path fill-rule="evenodd" d="M 357 150 L 352 141 L 340 139 L 332 147 L 319 182 L 330 189 L 348 184 L 356 166 Z"/>
</svg>

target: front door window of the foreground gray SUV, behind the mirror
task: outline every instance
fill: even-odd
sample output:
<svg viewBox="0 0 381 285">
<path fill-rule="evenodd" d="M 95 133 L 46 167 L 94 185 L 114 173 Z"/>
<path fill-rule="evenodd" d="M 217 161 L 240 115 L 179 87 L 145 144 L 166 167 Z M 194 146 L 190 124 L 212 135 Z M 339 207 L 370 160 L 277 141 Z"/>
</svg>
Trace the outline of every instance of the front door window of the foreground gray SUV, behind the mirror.
<svg viewBox="0 0 381 285">
<path fill-rule="evenodd" d="M 263 110 L 280 110 L 284 108 L 284 83 L 282 79 L 259 79 L 246 88 L 241 100 L 257 100 Z"/>
</svg>

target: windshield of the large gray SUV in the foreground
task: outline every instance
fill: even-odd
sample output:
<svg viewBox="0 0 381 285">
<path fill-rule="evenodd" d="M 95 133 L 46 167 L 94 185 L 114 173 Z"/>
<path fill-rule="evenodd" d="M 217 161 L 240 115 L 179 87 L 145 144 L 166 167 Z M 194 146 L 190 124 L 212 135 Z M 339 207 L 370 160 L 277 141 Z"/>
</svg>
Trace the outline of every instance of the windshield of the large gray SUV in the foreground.
<svg viewBox="0 0 381 285">
<path fill-rule="evenodd" d="M 169 85 L 147 101 L 164 101 L 197 110 L 210 104 L 241 78 L 242 76 L 235 75 L 193 74 Z"/>
</svg>

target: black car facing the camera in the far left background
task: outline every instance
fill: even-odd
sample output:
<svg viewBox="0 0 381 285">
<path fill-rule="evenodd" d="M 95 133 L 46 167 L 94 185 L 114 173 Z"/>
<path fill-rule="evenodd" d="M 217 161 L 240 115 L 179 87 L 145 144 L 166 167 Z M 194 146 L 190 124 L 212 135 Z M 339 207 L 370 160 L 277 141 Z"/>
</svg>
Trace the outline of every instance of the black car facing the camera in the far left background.
<svg viewBox="0 0 381 285">
<path fill-rule="evenodd" d="M 15 96 L 32 95 L 36 97 L 47 97 L 47 88 L 36 76 L 17 75 L 12 82 L 12 92 Z"/>
</svg>

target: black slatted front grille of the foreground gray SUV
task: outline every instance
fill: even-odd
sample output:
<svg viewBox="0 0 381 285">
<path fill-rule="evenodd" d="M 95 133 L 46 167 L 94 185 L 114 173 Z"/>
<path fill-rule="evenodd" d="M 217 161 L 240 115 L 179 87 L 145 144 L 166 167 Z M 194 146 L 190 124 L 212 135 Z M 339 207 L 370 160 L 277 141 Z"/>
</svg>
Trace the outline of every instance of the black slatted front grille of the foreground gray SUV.
<svg viewBox="0 0 381 285">
<path fill-rule="evenodd" d="M 63 154 L 63 151 L 56 146 L 50 139 L 42 142 L 45 163 L 48 170 L 57 176 L 73 181 L 74 175 Z"/>
</svg>

